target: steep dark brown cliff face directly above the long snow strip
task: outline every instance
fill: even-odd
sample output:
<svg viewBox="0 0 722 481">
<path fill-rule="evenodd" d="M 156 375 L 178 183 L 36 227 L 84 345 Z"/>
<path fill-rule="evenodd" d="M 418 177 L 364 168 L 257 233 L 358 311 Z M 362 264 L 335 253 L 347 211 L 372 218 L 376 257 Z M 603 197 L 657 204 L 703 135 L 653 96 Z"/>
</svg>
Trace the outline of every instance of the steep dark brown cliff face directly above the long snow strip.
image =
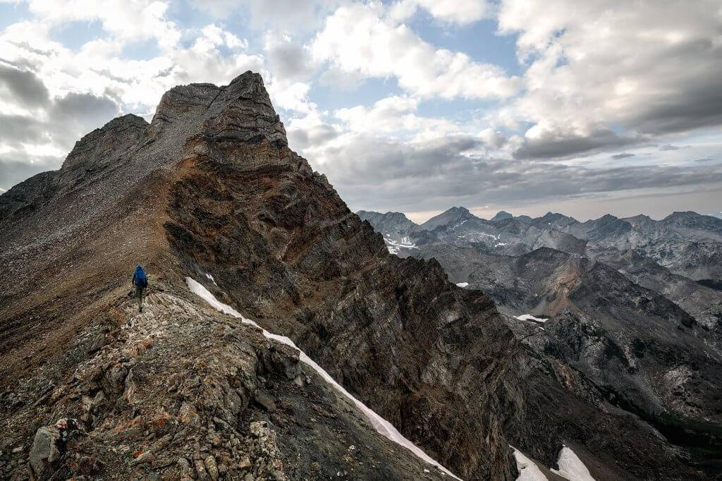
<svg viewBox="0 0 722 481">
<path fill-rule="evenodd" d="M 513 391 L 514 341 L 490 300 L 449 285 L 436 263 L 389 256 L 289 149 L 204 139 L 209 153 L 174 184 L 165 225 L 185 269 L 212 274 L 233 305 L 452 471 L 509 478 L 502 422 L 490 417 L 508 404 L 507 383 Z"/>
</svg>

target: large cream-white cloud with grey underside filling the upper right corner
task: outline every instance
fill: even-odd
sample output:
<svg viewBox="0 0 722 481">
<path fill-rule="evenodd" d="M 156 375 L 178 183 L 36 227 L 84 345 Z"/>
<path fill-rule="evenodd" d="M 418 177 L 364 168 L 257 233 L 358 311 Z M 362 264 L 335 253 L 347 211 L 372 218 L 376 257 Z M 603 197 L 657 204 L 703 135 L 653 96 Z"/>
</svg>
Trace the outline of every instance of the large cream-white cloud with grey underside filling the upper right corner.
<svg viewBox="0 0 722 481">
<path fill-rule="evenodd" d="M 517 157 L 619 147 L 611 126 L 626 144 L 722 124 L 717 1 L 503 0 L 498 22 L 528 63 L 503 111 L 544 131 Z"/>
</svg>

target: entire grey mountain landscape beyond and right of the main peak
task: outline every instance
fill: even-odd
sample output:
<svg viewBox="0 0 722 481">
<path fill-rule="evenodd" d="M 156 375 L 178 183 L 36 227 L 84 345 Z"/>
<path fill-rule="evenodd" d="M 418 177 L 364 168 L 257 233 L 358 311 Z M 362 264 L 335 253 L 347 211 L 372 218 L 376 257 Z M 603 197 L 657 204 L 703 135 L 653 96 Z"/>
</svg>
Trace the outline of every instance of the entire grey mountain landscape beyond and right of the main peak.
<svg viewBox="0 0 722 481">
<path fill-rule="evenodd" d="M 502 211 L 486 220 L 452 207 L 417 225 L 399 212 L 358 215 L 391 253 L 435 259 L 451 282 L 490 295 L 526 349 L 568 372 L 581 396 L 718 466 L 722 451 L 705 449 L 722 448 L 721 219 Z M 679 417 L 659 415 L 670 407 Z"/>
</svg>

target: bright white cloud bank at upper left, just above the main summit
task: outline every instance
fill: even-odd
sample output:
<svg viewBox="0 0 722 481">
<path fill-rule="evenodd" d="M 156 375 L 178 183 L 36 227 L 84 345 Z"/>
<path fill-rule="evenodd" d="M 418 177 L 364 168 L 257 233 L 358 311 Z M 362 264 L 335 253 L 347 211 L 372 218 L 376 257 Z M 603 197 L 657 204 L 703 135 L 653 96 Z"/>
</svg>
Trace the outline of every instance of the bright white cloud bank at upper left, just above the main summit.
<svg viewBox="0 0 722 481">
<path fill-rule="evenodd" d="M 0 51 L 5 61 L 41 77 L 51 95 L 108 95 L 128 110 L 144 109 L 140 113 L 152 112 L 163 92 L 175 85 L 224 84 L 240 72 L 264 67 L 262 56 L 245 51 L 245 40 L 217 25 L 193 33 L 188 46 L 164 48 L 158 56 L 137 60 L 121 56 L 124 36 L 91 40 L 72 50 L 51 39 L 43 22 L 19 22 L 0 34 Z"/>
</svg>

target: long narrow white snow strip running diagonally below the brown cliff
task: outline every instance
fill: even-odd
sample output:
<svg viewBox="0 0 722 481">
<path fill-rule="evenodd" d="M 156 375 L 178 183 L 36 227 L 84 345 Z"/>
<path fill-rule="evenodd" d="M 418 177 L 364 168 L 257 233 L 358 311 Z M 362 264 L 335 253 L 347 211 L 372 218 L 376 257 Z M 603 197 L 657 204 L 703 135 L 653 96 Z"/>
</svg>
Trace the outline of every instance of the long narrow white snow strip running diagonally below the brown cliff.
<svg viewBox="0 0 722 481">
<path fill-rule="evenodd" d="M 195 280 L 191 279 L 191 277 L 186 277 L 186 282 L 188 283 L 188 289 L 191 290 L 191 293 L 194 293 L 196 295 L 199 295 L 201 298 L 206 300 L 207 303 L 209 303 L 211 306 L 216 308 L 218 311 L 221 311 L 222 313 L 227 313 L 230 316 L 237 317 L 241 321 L 243 321 L 244 324 L 251 324 L 251 326 L 258 327 L 258 329 L 261 329 L 264 336 L 267 339 L 275 339 L 278 342 L 282 342 L 285 345 L 288 345 L 290 347 L 293 347 L 294 349 L 298 350 L 298 359 L 305 363 L 306 365 L 310 366 L 314 371 L 316 371 L 319 376 L 321 376 L 327 383 L 331 384 L 331 386 L 336 389 L 336 391 L 339 391 L 339 393 L 343 394 L 345 397 L 347 397 L 350 401 L 352 401 L 358 410 L 360 410 L 370 421 L 371 425 L 375 428 L 375 430 L 385 438 L 393 441 L 394 443 L 399 444 L 400 446 L 404 446 L 404 448 L 408 449 L 409 451 L 412 451 L 412 453 L 416 454 L 419 458 L 423 459 L 425 462 L 432 464 L 439 469 L 442 470 L 442 474 L 447 473 L 448 475 L 451 475 L 451 477 L 454 477 L 455 479 L 459 479 L 458 477 L 454 476 L 451 471 L 443 467 L 441 464 L 436 462 L 434 459 L 432 459 L 430 456 L 428 456 L 424 451 L 422 451 L 419 446 L 416 446 L 414 443 L 406 439 L 401 433 L 399 433 L 396 428 L 393 427 L 391 423 L 389 423 L 387 420 L 383 419 L 383 417 L 380 417 L 378 414 L 376 414 L 373 410 L 371 410 L 369 407 L 366 406 L 366 404 L 363 404 L 358 399 L 353 397 L 349 392 L 344 389 L 344 386 L 341 386 L 336 381 L 334 381 L 334 378 L 329 375 L 323 368 L 321 368 L 320 365 L 316 364 L 313 359 L 309 358 L 308 355 L 306 355 L 305 352 L 298 349 L 297 345 L 294 344 L 294 342 L 285 336 L 279 336 L 278 334 L 272 334 L 271 332 L 266 331 L 266 329 L 261 328 L 261 326 L 258 326 L 255 322 L 251 321 L 251 319 L 246 319 L 243 317 L 238 311 L 236 311 L 231 306 L 228 306 L 227 304 L 224 304 L 217 300 L 215 296 L 209 292 L 203 285 L 199 284 Z M 460 480 L 461 481 L 461 480 Z"/>
</svg>

